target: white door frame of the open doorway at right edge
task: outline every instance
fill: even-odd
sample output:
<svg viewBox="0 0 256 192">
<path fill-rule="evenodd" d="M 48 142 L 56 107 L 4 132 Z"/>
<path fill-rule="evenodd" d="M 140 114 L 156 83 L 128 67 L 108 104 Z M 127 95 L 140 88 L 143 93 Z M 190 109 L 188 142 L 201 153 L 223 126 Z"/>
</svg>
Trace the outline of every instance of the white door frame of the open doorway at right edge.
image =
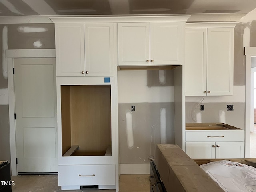
<svg viewBox="0 0 256 192">
<path fill-rule="evenodd" d="M 251 110 L 251 56 L 256 56 L 256 47 L 245 47 L 245 158 L 250 158 Z"/>
</svg>

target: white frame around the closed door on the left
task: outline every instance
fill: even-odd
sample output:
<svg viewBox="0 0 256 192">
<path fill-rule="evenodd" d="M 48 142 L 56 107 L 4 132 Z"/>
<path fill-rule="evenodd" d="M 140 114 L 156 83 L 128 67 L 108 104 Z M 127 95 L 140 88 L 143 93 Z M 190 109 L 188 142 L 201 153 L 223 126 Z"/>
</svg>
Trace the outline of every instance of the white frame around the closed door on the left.
<svg viewBox="0 0 256 192">
<path fill-rule="evenodd" d="M 55 49 L 10 49 L 6 50 L 7 74 L 8 74 L 8 99 L 9 99 L 9 123 L 10 123 L 10 152 L 11 172 L 17 175 L 16 165 L 16 131 L 15 131 L 15 105 L 14 105 L 14 58 L 51 58 L 55 57 Z"/>
</svg>

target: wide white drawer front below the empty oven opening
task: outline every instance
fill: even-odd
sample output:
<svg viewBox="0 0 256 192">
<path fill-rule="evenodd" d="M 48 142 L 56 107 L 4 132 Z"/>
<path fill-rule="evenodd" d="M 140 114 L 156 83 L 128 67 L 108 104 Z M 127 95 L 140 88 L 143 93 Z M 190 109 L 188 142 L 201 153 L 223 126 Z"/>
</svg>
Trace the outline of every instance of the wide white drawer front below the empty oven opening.
<svg viewBox="0 0 256 192">
<path fill-rule="evenodd" d="M 115 185 L 115 165 L 60 165 L 59 186 Z"/>
</svg>

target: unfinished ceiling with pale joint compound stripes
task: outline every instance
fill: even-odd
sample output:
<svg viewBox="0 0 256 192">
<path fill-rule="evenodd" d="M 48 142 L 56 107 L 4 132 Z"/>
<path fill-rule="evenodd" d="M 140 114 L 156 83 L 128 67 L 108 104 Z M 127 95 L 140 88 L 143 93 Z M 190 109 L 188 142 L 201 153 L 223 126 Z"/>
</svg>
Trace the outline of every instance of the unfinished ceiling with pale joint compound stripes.
<svg viewBox="0 0 256 192">
<path fill-rule="evenodd" d="M 247 14 L 256 0 L 0 0 L 0 16 Z"/>
</svg>

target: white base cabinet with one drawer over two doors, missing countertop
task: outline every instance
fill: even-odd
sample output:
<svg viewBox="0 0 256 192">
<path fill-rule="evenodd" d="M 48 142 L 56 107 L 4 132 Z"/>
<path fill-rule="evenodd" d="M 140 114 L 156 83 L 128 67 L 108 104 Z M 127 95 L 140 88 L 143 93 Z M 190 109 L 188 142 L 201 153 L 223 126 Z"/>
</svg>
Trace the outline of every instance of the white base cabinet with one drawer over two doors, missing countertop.
<svg viewBox="0 0 256 192">
<path fill-rule="evenodd" d="M 200 158 L 244 158 L 244 130 L 186 130 L 186 154 Z"/>
</svg>

